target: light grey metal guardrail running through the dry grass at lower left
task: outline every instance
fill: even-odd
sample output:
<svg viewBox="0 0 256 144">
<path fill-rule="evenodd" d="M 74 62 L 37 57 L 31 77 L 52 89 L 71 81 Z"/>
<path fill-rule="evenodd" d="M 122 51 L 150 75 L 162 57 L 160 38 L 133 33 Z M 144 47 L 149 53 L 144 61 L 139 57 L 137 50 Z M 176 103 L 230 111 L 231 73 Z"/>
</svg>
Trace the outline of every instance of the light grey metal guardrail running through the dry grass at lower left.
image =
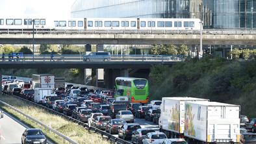
<svg viewBox="0 0 256 144">
<path fill-rule="evenodd" d="M 57 130 L 45 125 L 44 123 L 42 123 L 41 121 L 38 121 L 37 119 L 34 119 L 33 117 L 21 112 L 20 110 L 18 110 L 17 108 L 14 108 L 14 106 L 11 106 L 10 104 L 7 104 L 6 102 L 0 101 L 2 104 L 8 106 L 9 108 L 11 108 L 12 110 L 18 112 L 19 114 L 25 116 L 27 119 L 30 119 L 31 121 L 36 122 L 38 125 L 43 126 L 45 129 L 53 132 L 54 134 L 57 134 L 60 138 L 63 138 L 64 141 L 68 141 L 69 143 L 72 144 L 78 144 L 77 142 L 73 141 L 72 139 L 68 138 L 67 136 L 65 136 L 64 134 L 58 132 Z"/>
</svg>

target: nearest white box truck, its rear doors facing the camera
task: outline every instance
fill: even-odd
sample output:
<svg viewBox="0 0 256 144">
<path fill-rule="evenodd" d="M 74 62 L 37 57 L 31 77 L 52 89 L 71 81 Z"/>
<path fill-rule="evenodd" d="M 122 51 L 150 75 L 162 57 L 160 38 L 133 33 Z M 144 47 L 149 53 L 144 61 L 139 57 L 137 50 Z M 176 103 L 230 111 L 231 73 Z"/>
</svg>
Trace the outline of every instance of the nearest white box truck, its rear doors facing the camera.
<svg viewBox="0 0 256 144">
<path fill-rule="evenodd" d="M 188 143 L 239 143 L 240 106 L 220 102 L 185 102 Z"/>
</svg>

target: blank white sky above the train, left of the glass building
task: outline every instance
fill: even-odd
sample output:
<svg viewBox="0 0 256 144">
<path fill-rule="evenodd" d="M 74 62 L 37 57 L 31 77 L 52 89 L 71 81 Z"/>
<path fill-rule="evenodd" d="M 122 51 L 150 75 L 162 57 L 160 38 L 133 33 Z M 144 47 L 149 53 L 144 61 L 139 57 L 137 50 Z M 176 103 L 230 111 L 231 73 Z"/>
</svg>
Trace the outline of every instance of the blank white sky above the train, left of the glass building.
<svg viewBox="0 0 256 144">
<path fill-rule="evenodd" d="M 47 16 L 70 18 L 75 0 L 0 0 L 0 17 L 5 16 Z"/>
</svg>

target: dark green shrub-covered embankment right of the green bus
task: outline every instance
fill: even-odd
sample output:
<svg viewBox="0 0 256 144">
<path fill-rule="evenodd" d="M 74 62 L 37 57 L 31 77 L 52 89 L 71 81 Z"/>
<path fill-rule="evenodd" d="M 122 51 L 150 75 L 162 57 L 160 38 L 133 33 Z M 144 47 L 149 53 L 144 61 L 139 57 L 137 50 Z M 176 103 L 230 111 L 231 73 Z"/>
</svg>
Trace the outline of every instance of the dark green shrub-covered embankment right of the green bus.
<svg viewBox="0 0 256 144">
<path fill-rule="evenodd" d="M 203 58 L 156 66 L 149 75 L 151 99 L 189 96 L 239 104 L 241 114 L 255 117 L 256 61 Z"/>
</svg>

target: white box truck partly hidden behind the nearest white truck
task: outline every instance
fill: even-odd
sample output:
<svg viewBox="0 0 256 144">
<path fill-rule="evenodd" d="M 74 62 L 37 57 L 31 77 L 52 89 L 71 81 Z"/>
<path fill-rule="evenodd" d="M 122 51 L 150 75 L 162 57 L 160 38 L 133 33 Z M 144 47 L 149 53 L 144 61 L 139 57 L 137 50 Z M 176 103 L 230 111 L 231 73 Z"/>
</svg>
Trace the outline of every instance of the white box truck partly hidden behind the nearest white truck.
<svg viewBox="0 0 256 144">
<path fill-rule="evenodd" d="M 183 138 L 185 126 L 185 102 L 209 101 L 194 97 L 162 97 L 159 127 L 168 138 Z"/>
</svg>

